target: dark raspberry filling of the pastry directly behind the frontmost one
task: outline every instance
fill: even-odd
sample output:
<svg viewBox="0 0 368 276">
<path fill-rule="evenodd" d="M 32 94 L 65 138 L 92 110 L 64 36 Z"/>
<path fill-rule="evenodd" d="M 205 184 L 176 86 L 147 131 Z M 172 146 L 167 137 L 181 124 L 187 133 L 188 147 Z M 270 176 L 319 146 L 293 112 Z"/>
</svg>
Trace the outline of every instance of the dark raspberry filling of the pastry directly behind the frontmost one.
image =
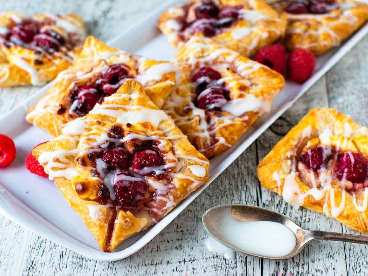
<svg viewBox="0 0 368 276">
<path fill-rule="evenodd" d="M 96 103 L 102 103 L 106 96 L 110 96 L 128 78 L 129 67 L 125 64 L 113 64 L 102 73 L 96 81 L 92 81 L 86 85 L 76 86 L 67 99 L 63 99 L 64 103 L 60 104 L 57 114 L 64 114 L 69 110 L 70 116 L 82 117 L 93 109 Z"/>
</svg>

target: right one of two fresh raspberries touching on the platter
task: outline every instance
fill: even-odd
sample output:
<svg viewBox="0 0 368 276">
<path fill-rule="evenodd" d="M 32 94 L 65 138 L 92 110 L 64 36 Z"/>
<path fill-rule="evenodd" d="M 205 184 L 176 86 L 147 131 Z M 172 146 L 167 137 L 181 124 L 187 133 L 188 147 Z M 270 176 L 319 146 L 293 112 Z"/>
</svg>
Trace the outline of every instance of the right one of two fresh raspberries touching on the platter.
<svg viewBox="0 0 368 276">
<path fill-rule="evenodd" d="M 316 66 L 316 57 L 309 51 L 297 49 L 287 59 L 288 77 L 300 84 L 311 76 Z"/>
</svg>

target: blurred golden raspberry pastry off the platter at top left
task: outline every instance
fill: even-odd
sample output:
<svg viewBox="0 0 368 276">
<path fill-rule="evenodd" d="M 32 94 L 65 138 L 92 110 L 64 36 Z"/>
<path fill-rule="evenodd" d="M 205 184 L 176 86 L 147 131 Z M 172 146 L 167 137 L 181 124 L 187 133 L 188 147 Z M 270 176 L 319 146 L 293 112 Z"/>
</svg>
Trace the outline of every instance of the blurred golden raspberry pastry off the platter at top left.
<svg viewBox="0 0 368 276">
<path fill-rule="evenodd" d="M 85 37 L 77 14 L 0 15 L 0 87 L 51 81 L 72 64 Z"/>
</svg>

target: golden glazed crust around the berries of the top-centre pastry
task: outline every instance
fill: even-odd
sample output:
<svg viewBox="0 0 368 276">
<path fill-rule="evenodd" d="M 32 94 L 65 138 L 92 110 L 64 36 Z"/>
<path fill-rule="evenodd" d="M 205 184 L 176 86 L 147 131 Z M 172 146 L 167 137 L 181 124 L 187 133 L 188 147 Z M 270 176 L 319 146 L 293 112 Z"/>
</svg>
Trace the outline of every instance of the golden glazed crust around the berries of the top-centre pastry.
<svg viewBox="0 0 368 276">
<path fill-rule="evenodd" d="M 193 35 L 201 35 L 201 32 L 195 29 L 190 31 L 190 28 L 192 25 L 198 25 L 198 20 L 192 22 L 196 20 L 195 9 L 203 2 L 205 1 L 190 1 L 184 6 L 170 8 L 161 16 L 159 29 L 174 47 L 182 46 Z M 214 0 L 212 2 L 219 7 L 220 11 L 225 8 L 236 8 L 240 15 L 235 24 L 221 28 L 210 38 L 217 44 L 235 50 L 243 56 L 252 56 L 258 49 L 284 35 L 286 17 L 278 15 L 263 0 Z M 184 24 L 189 25 L 187 29 L 183 27 L 184 21 L 186 22 Z M 207 23 L 204 22 L 204 24 Z"/>
</svg>

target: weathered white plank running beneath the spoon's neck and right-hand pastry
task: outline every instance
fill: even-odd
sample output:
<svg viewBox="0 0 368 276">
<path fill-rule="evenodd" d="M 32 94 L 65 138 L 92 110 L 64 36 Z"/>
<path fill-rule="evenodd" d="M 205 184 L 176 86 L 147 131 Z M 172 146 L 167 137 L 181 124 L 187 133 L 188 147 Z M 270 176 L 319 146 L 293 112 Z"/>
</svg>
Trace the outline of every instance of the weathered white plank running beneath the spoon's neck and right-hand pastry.
<svg viewBox="0 0 368 276">
<path fill-rule="evenodd" d="M 325 80 L 322 77 L 304 96 L 257 140 L 258 156 L 262 158 L 308 113 L 312 107 L 328 106 Z M 341 232 L 341 224 L 308 209 L 297 210 L 276 193 L 261 188 L 262 207 L 281 212 L 301 227 Z M 270 229 L 270 231 L 272 231 Z M 263 260 L 263 275 L 346 275 L 343 243 L 315 242 L 296 257 L 283 261 Z"/>
</svg>

